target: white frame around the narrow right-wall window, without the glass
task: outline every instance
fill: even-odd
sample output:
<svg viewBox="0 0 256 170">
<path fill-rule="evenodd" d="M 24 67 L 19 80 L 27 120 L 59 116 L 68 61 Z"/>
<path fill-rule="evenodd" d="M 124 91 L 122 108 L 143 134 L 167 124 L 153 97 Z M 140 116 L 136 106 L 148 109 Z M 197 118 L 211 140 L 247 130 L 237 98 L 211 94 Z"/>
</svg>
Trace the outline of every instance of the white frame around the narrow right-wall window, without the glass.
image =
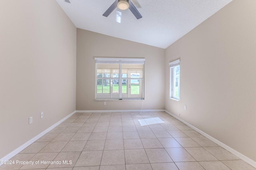
<svg viewBox="0 0 256 170">
<path fill-rule="evenodd" d="M 176 86 L 174 83 L 176 83 L 176 77 L 174 75 L 175 73 L 175 68 L 177 66 L 180 67 L 180 59 L 174 60 L 169 63 L 170 66 L 170 99 L 175 99 L 175 100 L 180 100 L 180 77 L 178 80 L 178 97 L 174 95 L 174 87 Z"/>
</svg>

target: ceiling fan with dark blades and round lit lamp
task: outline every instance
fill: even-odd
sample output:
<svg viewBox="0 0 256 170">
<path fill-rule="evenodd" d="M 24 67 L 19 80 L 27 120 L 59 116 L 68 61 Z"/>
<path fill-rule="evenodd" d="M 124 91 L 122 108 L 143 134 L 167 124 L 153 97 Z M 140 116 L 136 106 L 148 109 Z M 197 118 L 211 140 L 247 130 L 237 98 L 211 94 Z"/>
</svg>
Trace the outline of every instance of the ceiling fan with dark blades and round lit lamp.
<svg viewBox="0 0 256 170">
<path fill-rule="evenodd" d="M 103 14 L 103 16 L 108 17 L 109 14 L 111 14 L 111 12 L 114 11 L 114 9 L 116 9 L 116 7 L 118 7 L 120 10 L 127 10 L 129 8 L 129 10 L 132 12 L 132 14 L 134 14 L 134 16 L 137 19 L 142 18 L 142 15 L 140 14 L 140 12 L 138 12 L 137 8 L 134 6 L 134 4 L 132 3 L 131 0 L 116 0 L 107 10 L 106 12 Z"/>
</svg>

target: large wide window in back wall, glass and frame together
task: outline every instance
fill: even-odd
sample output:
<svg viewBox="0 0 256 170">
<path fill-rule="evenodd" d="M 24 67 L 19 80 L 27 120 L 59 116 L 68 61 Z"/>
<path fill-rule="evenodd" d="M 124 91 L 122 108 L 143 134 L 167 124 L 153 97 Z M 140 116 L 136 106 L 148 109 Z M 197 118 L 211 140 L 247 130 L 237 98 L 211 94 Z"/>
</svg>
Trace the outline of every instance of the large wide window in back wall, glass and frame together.
<svg viewBox="0 0 256 170">
<path fill-rule="evenodd" d="M 96 100 L 144 99 L 145 59 L 94 59 Z"/>
</svg>

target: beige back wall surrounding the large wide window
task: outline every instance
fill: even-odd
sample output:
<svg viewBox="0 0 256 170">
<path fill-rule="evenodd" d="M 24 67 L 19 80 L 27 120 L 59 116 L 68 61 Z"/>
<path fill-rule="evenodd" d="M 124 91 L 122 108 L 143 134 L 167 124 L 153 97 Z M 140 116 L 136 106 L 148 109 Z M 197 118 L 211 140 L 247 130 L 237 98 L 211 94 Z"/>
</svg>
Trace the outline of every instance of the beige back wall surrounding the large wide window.
<svg viewBox="0 0 256 170">
<path fill-rule="evenodd" d="M 95 101 L 94 57 L 145 58 L 144 101 Z M 77 29 L 76 110 L 164 109 L 164 49 Z"/>
</svg>

